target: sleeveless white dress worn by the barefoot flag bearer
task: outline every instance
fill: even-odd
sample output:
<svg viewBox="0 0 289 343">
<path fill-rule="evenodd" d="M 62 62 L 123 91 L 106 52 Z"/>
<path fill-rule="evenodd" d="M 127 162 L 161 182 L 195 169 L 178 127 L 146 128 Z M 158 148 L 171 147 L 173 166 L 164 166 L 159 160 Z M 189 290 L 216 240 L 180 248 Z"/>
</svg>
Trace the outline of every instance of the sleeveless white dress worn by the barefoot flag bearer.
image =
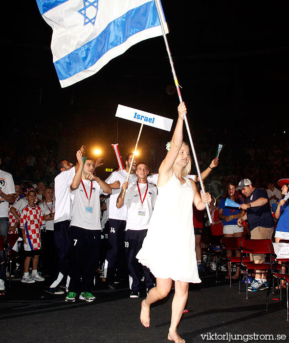
<svg viewBox="0 0 289 343">
<path fill-rule="evenodd" d="M 192 184 L 173 173 L 158 196 L 142 248 L 136 258 L 158 278 L 199 283 L 193 227 Z"/>
</svg>

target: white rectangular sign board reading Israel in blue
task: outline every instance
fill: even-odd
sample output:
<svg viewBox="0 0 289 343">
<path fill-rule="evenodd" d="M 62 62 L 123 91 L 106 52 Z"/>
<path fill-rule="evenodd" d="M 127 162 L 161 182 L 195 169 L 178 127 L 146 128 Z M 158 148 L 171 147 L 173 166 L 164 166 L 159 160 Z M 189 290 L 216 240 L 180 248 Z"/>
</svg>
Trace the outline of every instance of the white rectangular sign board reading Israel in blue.
<svg viewBox="0 0 289 343">
<path fill-rule="evenodd" d="M 153 126 L 162 130 L 171 131 L 173 120 L 156 114 L 136 110 L 132 107 L 118 105 L 115 117 L 130 120 L 132 122 Z"/>
</svg>

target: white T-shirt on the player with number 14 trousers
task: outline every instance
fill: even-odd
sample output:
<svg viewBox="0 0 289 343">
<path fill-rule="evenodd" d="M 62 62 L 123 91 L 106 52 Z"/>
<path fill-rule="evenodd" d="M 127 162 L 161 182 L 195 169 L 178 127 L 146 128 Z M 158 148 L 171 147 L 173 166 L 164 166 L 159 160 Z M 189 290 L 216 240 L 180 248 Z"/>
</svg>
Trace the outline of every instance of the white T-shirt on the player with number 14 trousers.
<svg viewBox="0 0 289 343">
<path fill-rule="evenodd" d="M 119 189 L 113 189 L 110 196 L 109 217 L 110 219 L 118 219 L 120 221 L 127 220 L 127 206 L 123 205 L 121 208 L 116 207 L 116 200 L 121 192 L 122 184 L 127 180 L 128 173 L 125 170 L 118 172 L 112 172 L 111 175 L 105 180 L 107 184 L 111 184 L 114 181 L 120 182 Z M 130 174 L 129 183 L 135 183 L 137 180 L 136 174 Z"/>
</svg>

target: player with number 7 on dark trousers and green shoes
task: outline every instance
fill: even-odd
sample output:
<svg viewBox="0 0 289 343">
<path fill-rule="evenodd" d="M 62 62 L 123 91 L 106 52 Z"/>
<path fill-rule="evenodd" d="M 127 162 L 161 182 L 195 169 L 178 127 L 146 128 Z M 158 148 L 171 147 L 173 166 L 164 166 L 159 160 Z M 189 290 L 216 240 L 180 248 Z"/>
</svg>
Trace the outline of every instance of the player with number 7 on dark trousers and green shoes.
<svg viewBox="0 0 289 343">
<path fill-rule="evenodd" d="M 91 294 L 94 274 L 99 261 L 101 244 L 100 201 L 102 193 L 110 194 L 110 186 L 93 173 L 95 163 L 91 158 L 82 161 L 82 153 L 77 152 L 80 168 L 70 184 L 74 194 L 71 212 L 71 245 L 69 252 L 69 286 L 66 301 L 79 298 L 93 301 Z"/>
</svg>

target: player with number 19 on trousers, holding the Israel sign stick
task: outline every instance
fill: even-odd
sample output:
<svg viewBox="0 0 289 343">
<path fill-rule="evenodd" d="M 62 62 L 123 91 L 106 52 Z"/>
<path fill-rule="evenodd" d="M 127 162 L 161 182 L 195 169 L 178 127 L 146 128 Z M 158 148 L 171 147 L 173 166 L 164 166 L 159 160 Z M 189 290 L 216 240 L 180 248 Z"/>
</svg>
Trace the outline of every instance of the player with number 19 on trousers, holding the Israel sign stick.
<svg viewBox="0 0 289 343">
<path fill-rule="evenodd" d="M 147 235 L 150 219 L 156 202 L 156 186 L 148 183 L 150 169 L 146 162 L 139 162 L 136 166 L 136 184 L 124 182 L 122 190 L 127 190 L 124 199 L 121 194 L 117 197 L 116 206 L 121 208 L 127 205 L 127 223 L 125 232 L 125 247 L 129 269 L 131 298 L 138 298 L 141 292 L 140 267 L 144 273 L 144 282 L 147 292 L 155 286 L 155 277 L 150 270 L 141 265 L 136 259 L 143 240 Z"/>
</svg>

